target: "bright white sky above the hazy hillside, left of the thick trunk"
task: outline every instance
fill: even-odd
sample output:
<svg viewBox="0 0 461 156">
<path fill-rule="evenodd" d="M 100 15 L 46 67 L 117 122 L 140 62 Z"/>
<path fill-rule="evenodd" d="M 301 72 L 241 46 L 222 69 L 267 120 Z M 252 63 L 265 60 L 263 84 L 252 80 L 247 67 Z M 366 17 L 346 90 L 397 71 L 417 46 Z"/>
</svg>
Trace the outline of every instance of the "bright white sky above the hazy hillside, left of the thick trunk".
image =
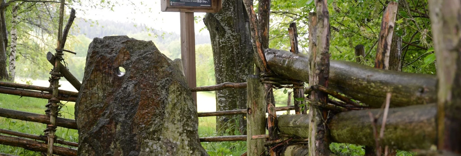
<svg viewBox="0 0 461 156">
<path fill-rule="evenodd" d="M 114 11 L 109 8 L 100 9 L 89 9 L 85 15 L 78 14 L 77 17 L 94 19 L 94 20 L 112 20 L 117 22 L 134 22 L 136 24 L 146 24 L 155 30 L 164 30 L 167 32 L 176 32 L 179 34 L 179 12 L 161 12 L 160 11 L 160 0 L 117 0 L 119 3 L 124 5 L 115 5 Z M 130 2 L 136 4 L 138 10 L 134 10 L 132 5 L 126 5 Z M 138 4 L 144 5 L 138 5 Z M 78 6 L 74 6 L 78 7 Z M 151 10 L 149 12 L 149 9 Z M 142 13 L 145 12 L 145 13 Z M 205 13 L 195 12 L 195 16 L 203 16 Z M 204 29 L 201 32 L 199 30 L 205 27 L 203 20 L 195 24 L 195 33 L 208 34 L 208 30 Z"/>
</svg>

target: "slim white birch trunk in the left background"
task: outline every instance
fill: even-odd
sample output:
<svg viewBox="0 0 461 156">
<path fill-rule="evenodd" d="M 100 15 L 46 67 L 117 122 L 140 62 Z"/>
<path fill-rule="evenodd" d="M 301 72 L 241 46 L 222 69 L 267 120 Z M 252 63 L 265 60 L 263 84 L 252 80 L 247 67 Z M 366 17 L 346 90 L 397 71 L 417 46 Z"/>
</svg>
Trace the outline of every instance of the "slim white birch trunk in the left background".
<svg viewBox="0 0 461 156">
<path fill-rule="evenodd" d="M 11 10 L 11 48 L 10 48 L 10 79 L 14 82 L 14 77 L 16 75 L 16 45 L 18 44 L 18 31 L 16 25 L 18 24 L 18 7 L 14 6 Z"/>
</svg>

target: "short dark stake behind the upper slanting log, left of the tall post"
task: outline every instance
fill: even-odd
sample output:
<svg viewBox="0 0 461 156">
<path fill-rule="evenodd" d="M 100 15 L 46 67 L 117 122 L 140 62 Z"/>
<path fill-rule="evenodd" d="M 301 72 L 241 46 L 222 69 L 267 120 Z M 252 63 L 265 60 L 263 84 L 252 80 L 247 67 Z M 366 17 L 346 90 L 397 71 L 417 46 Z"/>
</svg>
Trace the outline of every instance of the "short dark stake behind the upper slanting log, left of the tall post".
<svg viewBox="0 0 461 156">
<path fill-rule="evenodd" d="M 293 22 L 290 24 L 290 28 L 288 28 L 288 36 L 290 36 L 290 51 L 295 54 L 299 54 L 298 50 L 298 32 L 296 29 L 296 23 Z M 304 85 L 293 85 L 294 87 L 303 87 Z M 304 104 L 304 100 L 300 100 L 301 98 L 304 99 L 304 89 L 303 88 L 295 88 L 293 89 L 293 98 L 295 99 L 295 114 L 301 114 L 301 107 Z M 307 108 L 305 107 L 304 110 Z"/>
</svg>

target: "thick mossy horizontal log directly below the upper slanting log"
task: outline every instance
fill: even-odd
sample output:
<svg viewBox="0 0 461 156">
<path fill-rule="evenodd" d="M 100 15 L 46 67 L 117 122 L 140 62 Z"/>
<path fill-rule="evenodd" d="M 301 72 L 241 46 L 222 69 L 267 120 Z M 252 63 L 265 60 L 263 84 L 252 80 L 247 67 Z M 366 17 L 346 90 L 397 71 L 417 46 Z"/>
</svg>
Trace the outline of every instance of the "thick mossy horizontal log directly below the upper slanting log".
<svg viewBox="0 0 461 156">
<path fill-rule="evenodd" d="M 328 123 L 331 141 L 375 146 L 368 112 L 378 114 L 379 111 L 367 109 L 336 114 Z M 434 104 L 390 108 L 382 145 L 399 150 L 429 149 L 436 143 L 436 114 Z M 376 124 L 378 130 L 382 120 L 381 115 Z M 309 115 L 280 115 L 278 128 L 281 133 L 308 138 Z"/>
</svg>

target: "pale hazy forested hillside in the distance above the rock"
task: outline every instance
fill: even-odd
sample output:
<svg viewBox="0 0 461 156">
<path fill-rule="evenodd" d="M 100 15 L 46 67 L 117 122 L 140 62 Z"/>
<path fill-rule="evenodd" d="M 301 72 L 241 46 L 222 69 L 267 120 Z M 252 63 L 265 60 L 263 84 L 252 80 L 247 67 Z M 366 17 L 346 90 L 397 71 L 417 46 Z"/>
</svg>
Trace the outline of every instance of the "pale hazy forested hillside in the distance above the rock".
<svg viewBox="0 0 461 156">
<path fill-rule="evenodd" d="M 160 30 L 151 30 L 147 32 L 146 25 L 135 24 L 135 23 L 119 23 L 110 20 L 84 20 L 82 18 L 75 19 L 77 30 L 73 31 L 72 34 L 78 36 L 80 34 L 93 39 L 95 37 L 113 36 L 113 35 L 129 35 L 138 33 L 147 33 L 151 36 L 157 35 L 158 39 L 156 42 L 167 44 L 171 41 L 180 39 L 180 35 L 177 33 L 170 33 Z M 132 36 L 130 36 L 132 37 Z M 211 43 L 210 36 L 207 35 L 195 35 L 195 44 L 207 44 Z"/>
</svg>

